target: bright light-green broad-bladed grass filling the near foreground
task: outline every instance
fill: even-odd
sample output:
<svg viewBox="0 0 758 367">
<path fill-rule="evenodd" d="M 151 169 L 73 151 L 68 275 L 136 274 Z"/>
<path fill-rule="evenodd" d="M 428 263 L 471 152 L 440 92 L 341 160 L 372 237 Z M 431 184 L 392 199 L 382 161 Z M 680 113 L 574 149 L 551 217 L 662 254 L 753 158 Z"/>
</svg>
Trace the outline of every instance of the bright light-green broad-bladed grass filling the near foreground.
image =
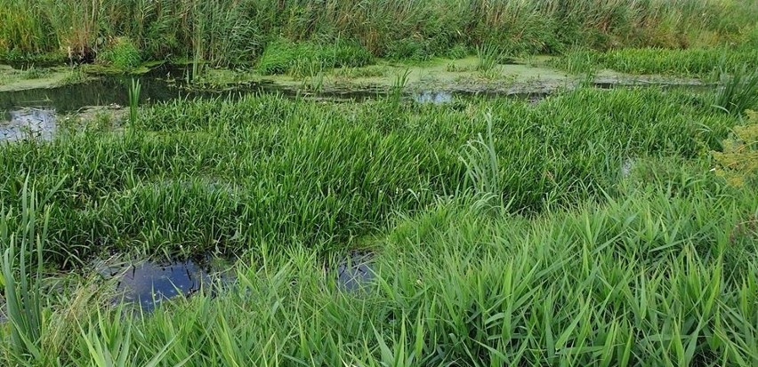
<svg viewBox="0 0 758 367">
<path fill-rule="evenodd" d="M 126 365 L 754 363 L 758 233 L 733 232 L 754 195 L 628 194 L 536 220 L 442 200 L 377 243 L 365 293 L 336 288 L 311 249 L 268 248 L 219 297 L 102 312 L 88 332 L 113 353 L 131 339 Z M 103 354 L 79 348 L 60 360 Z"/>
</svg>

